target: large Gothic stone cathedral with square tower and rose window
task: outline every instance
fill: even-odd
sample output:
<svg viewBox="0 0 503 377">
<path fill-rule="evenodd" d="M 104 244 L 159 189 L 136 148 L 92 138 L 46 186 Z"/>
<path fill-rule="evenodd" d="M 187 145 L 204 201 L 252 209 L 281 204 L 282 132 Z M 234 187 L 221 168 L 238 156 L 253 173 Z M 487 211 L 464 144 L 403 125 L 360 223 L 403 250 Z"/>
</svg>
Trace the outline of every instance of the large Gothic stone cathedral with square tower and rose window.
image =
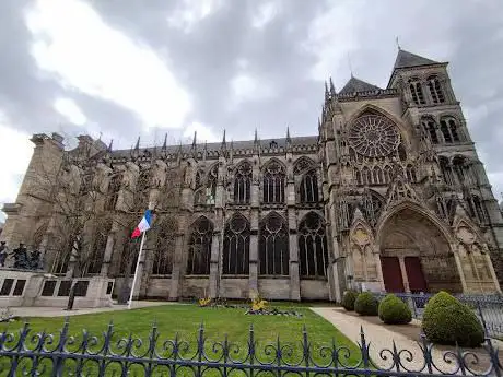
<svg viewBox="0 0 503 377">
<path fill-rule="evenodd" d="M 325 85 L 318 133 L 34 154 L 1 240 L 136 297 L 337 301 L 346 290 L 501 293 L 503 220 L 446 62 L 399 49 L 386 89 Z M 150 208 L 138 261 L 130 234 Z"/>
</svg>

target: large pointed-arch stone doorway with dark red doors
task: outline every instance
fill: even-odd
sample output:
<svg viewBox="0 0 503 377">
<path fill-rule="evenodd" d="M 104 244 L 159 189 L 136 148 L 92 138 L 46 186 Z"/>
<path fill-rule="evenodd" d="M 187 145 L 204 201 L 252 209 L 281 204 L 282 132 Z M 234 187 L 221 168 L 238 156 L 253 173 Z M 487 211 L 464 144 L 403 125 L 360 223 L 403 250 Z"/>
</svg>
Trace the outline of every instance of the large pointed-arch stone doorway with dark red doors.
<svg viewBox="0 0 503 377">
<path fill-rule="evenodd" d="M 387 292 L 463 292 L 449 244 L 425 215 L 402 209 L 383 224 L 378 237 Z"/>
</svg>

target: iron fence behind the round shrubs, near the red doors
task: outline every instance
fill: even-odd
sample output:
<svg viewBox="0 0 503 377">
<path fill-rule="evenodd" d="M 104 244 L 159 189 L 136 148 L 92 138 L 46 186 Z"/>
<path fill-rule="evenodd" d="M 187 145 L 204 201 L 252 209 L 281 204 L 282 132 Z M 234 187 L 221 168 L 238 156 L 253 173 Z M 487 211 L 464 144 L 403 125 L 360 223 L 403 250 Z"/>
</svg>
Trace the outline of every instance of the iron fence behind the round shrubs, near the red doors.
<svg viewBox="0 0 503 377">
<path fill-rule="evenodd" d="M 376 293 L 378 299 L 385 293 Z M 413 318 L 421 319 L 424 306 L 433 294 L 395 293 L 412 310 Z M 464 304 L 467 304 L 481 321 L 486 333 L 490 337 L 503 339 L 503 296 L 501 295 L 456 295 Z"/>
</svg>

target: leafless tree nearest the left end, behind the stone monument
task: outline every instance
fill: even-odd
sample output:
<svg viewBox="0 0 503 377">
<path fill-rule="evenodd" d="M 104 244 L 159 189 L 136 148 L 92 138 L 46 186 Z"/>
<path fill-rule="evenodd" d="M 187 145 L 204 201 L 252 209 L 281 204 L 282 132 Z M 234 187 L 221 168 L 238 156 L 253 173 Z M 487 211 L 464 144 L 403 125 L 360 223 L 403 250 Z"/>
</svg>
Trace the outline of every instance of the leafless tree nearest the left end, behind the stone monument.
<svg viewBox="0 0 503 377">
<path fill-rule="evenodd" d="M 100 272 L 103 252 L 96 247 L 103 243 L 96 245 L 96 240 L 106 237 L 112 219 L 103 209 L 93 161 L 66 154 L 56 167 L 40 164 L 32 173 L 28 192 L 43 207 L 31 244 L 39 247 L 47 236 L 45 254 L 54 256 L 51 272 L 66 273 L 67 278 Z M 74 290 L 75 283 L 70 288 L 68 309 L 73 306 Z"/>
</svg>

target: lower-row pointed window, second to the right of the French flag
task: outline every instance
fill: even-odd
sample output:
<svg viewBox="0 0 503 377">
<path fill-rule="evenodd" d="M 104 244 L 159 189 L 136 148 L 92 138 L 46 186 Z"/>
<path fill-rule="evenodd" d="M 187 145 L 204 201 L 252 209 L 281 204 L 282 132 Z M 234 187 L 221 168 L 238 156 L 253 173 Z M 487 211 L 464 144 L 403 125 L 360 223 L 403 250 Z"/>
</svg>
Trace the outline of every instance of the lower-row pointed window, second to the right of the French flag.
<svg viewBox="0 0 503 377">
<path fill-rule="evenodd" d="M 187 274 L 208 275 L 210 273 L 213 224 L 207 217 L 199 217 L 191 226 L 189 239 Z"/>
</svg>

